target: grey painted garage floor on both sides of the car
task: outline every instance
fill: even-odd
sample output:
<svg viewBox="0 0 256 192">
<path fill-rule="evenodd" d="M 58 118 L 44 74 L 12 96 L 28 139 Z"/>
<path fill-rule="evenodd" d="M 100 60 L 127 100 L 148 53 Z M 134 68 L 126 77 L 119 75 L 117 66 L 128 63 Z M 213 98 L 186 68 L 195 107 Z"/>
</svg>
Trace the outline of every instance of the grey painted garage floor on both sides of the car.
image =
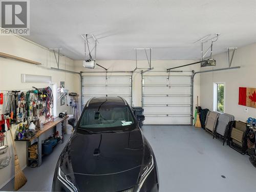
<svg viewBox="0 0 256 192">
<path fill-rule="evenodd" d="M 255 191 L 256 168 L 248 156 L 222 146 L 202 129 L 187 125 L 144 125 L 143 133 L 156 155 L 160 192 Z M 24 169 L 28 182 L 20 191 L 51 190 L 55 164 L 64 145 L 57 145 L 39 168 Z M 12 180 L 1 190 L 14 190 L 13 185 Z"/>
</svg>

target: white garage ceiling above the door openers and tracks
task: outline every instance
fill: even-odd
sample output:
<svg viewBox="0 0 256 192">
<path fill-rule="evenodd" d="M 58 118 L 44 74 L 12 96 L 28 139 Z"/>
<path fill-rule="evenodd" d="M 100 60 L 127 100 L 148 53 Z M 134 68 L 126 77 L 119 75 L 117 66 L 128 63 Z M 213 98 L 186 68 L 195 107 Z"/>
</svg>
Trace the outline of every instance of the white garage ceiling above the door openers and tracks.
<svg viewBox="0 0 256 192">
<path fill-rule="evenodd" d="M 214 54 L 256 42 L 256 0 L 33 0 L 30 14 L 25 37 L 72 59 L 83 59 L 82 33 L 98 38 L 101 60 L 135 59 L 144 47 L 153 60 L 196 59 L 193 42 L 214 33 Z"/>
</svg>

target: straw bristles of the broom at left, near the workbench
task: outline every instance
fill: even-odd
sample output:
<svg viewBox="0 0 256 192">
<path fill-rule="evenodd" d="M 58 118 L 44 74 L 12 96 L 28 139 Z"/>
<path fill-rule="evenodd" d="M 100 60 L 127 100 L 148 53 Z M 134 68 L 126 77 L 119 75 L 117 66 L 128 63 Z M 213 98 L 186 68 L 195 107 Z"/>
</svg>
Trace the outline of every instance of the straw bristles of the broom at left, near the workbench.
<svg viewBox="0 0 256 192">
<path fill-rule="evenodd" d="M 14 189 L 18 190 L 20 187 L 26 184 L 27 178 L 25 177 L 22 169 L 20 169 L 18 156 L 14 158 L 15 176 L 14 176 Z"/>
</svg>

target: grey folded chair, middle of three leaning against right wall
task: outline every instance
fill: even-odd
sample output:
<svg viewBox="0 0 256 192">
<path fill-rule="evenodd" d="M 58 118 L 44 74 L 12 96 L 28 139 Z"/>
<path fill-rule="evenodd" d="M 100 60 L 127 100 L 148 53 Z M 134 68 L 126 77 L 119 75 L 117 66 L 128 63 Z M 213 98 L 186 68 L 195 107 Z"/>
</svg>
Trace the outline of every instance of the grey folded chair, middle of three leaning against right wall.
<svg viewBox="0 0 256 192">
<path fill-rule="evenodd" d="M 228 132 L 232 123 L 234 121 L 234 116 L 227 113 L 220 114 L 218 118 L 218 123 L 214 132 L 214 138 L 221 140 L 224 143 L 227 141 Z"/>
</svg>

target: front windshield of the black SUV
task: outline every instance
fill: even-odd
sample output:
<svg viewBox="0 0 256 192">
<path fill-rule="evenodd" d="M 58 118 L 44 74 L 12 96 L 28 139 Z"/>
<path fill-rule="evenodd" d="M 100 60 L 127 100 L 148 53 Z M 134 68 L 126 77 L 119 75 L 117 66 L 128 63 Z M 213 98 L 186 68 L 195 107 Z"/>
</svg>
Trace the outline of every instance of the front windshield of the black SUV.
<svg viewBox="0 0 256 192">
<path fill-rule="evenodd" d="M 84 110 L 80 117 L 79 129 L 124 131 L 134 127 L 132 125 L 134 125 L 134 118 L 128 106 L 99 105 L 89 106 Z"/>
</svg>

